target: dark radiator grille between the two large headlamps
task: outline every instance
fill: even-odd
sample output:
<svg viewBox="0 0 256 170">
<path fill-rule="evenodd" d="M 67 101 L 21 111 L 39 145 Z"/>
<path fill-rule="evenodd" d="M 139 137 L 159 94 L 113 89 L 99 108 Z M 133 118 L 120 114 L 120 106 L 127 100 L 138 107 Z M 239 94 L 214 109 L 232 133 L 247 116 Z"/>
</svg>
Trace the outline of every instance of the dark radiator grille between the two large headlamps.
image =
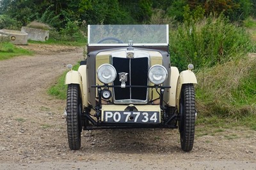
<svg viewBox="0 0 256 170">
<path fill-rule="evenodd" d="M 125 72 L 127 82 L 125 85 L 147 86 L 148 85 L 148 58 L 113 58 L 113 66 L 116 68 L 116 79 L 113 85 L 120 86 L 118 73 Z M 147 100 L 147 88 L 114 88 L 116 100 Z"/>
</svg>

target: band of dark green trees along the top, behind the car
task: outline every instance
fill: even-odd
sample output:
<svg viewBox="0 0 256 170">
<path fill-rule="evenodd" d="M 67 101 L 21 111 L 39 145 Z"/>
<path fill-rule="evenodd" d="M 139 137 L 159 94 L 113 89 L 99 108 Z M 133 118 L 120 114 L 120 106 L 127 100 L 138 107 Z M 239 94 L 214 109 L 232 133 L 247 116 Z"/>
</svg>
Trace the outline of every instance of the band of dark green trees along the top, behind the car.
<svg viewBox="0 0 256 170">
<path fill-rule="evenodd" d="M 149 23 L 157 9 L 163 10 L 166 17 L 175 17 L 182 22 L 186 5 L 191 10 L 200 6 L 205 16 L 223 13 L 231 21 L 256 16 L 255 0 L 2 0 L 0 13 L 23 26 L 41 20 L 60 29 L 70 20 L 80 24 Z"/>
</svg>

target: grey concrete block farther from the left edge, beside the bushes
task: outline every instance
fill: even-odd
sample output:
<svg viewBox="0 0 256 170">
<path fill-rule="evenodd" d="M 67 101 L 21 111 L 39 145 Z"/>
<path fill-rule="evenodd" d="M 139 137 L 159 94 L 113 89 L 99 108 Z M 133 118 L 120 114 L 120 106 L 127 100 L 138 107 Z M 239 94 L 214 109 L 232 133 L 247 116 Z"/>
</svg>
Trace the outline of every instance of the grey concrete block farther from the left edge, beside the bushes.
<svg viewBox="0 0 256 170">
<path fill-rule="evenodd" d="M 45 42 L 49 39 L 49 31 L 43 29 L 35 29 L 31 27 L 22 27 L 21 31 L 28 33 L 28 40 Z"/>
</svg>

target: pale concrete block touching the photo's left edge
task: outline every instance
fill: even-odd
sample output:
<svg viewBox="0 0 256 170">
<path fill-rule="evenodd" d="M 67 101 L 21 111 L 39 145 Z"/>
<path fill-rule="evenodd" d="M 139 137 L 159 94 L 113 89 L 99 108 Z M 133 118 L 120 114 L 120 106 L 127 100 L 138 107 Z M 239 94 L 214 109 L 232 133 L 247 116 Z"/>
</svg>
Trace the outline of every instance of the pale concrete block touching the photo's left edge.
<svg viewBox="0 0 256 170">
<path fill-rule="evenodd" d="M 16 45 L 27 45 L 28 44 L 28 34 L 21 31 L 14 31 L 9 29 L 0 29 L 0 34 L 8 36 L 10 42 Z"/>
</svg>

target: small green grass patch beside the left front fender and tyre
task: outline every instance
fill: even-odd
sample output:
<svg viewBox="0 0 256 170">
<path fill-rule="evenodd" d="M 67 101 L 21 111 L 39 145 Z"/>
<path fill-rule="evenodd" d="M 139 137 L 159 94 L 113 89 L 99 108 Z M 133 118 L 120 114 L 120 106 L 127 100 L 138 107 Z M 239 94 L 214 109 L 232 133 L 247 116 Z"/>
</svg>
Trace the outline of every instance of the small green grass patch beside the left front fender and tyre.
<svg viewBox="0 0 256 170">
<path fill-rule="evenodd" d="M 79 63 L 77 65 L 73 66 L 73 70 L 78 70 Z M 51 88 L 48 89 L 48 94 L 51 96 L 54 96 L 58 99 L 65 100 L 67 98 L 67 85 L 65 85 L 65 76 L 66 73 L 68 72 L 65 71 L 56 81 L 54 85 L 51 86 Z"/>
</svg>

